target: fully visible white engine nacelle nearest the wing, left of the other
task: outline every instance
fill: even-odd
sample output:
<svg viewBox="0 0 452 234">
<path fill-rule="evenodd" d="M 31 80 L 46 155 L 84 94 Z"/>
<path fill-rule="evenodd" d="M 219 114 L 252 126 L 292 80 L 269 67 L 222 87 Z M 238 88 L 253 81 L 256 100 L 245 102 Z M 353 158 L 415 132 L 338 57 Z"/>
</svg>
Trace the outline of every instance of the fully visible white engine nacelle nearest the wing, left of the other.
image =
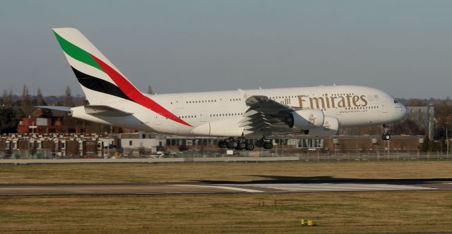
<svg viewBox="0 0 452 234">
<path fill-rule="evenodd" d="M 289 128 L 295 127 L 301 130 L 311 130 L 321 127 L 324 117 L 323 111 L 304 109 L 290 113 L 286 123 L 289 125 Z"/>
</svg>

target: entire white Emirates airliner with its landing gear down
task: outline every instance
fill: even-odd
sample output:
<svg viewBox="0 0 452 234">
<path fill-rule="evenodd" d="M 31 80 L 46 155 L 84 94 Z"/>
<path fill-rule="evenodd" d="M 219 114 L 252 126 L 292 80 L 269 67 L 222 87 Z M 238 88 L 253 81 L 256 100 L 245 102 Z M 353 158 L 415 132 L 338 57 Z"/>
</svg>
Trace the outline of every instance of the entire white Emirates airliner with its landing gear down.
<svg viewBox="0 0 452 234">
<path fill-rule="evenodd" d="M 144 94 L 82 33 L 54 28 L 88 105 L 40 106 L 69 111 L 86 121 L 182 136 L 225 137 L 219 147 L 271 149 L 270 135 L 335 135 L 340 127 L 384 125 L 407 109 L 371 87 L 319 86 L 278 89 Z M 259 138 L 256 145 L 246 138 Z M 387 128 L 383 140 L 389 140 Z"/>
</svg>

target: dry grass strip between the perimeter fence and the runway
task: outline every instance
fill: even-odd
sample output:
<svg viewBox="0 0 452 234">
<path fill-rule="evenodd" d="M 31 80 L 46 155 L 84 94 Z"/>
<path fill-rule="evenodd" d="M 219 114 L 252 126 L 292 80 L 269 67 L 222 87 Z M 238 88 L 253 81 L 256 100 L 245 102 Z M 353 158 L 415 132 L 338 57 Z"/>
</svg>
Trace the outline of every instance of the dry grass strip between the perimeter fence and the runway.
<svg viewBox="0 0 452 234">
<path fill-rule="evenodd" d="M 0 165 L 9 183 L 186 183 L 331 178 L 452 178 L 452 161 Z"/>
</svg>

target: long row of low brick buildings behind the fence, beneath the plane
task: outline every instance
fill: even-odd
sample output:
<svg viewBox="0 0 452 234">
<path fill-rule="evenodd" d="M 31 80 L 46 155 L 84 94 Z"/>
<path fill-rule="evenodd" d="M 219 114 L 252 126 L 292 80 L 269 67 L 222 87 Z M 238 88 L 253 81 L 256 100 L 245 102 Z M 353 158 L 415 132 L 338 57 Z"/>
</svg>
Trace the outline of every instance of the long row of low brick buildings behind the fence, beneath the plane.
<svg viewBox="0 0 452 234">
<path fill-rule="evenodd" d="M 321 152 L 418 152 L 423 136 L 393 136 L 383 141 L 379 136 L 335 136 L 269 138 L 274 148 L 228 150 L 218 148 L 219 137 L 177 137 L 150 133 L 119 135 L 11 134 L 0 136 L 0 157 L 16 159 L 105 158 L 146 156 L 275 156 L 279 154 Z M 257 140 L 257 139 L 256 139 Z M 251 139 L 250 141 L 254 141 Z M 186 152 L 181 154 L 181 152 Z"/>
</svg>

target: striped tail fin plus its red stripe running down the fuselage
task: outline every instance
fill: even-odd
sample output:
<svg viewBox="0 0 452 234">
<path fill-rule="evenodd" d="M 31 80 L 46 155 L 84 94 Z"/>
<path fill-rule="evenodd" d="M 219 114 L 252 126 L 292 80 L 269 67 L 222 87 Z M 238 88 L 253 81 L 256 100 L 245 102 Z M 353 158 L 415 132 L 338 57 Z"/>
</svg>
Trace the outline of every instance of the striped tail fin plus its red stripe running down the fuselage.
<svg viewBox="0 0 452 234">
<path fill-rule="evenodd" d="M 126 99 L 174 122 L 191 126 L 165 107 L 140 92 L 83 34 L 75 28 L 54 28 L 64 55 L 69 61 L 78 82 L 92 105 L 92 114 L 126 116 L 129 113 L 100 108 L 105 102 Z M 93 107 L 95 106 L 95 107 Z M 114 108 L 114 106 L 110 106 Z M 87 109 L 85 109 L 87 111 Z M 113 113 L 114 112 L 114 113 Z"/>
</svg>

